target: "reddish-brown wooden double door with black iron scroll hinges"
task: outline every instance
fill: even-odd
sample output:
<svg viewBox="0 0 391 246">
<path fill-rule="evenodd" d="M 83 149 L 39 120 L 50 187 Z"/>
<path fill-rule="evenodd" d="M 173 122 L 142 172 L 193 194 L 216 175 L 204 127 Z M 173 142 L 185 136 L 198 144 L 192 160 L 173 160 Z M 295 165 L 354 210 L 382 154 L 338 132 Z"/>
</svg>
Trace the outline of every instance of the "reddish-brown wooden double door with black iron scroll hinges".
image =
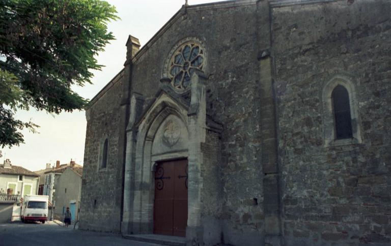
<svg viewBox="0 0 391 246">
<path fill-rule="evenodd" d="M 186 236 L 187 159 L 160 162 L 155 170 L 154 234 Z"/>
</svg>

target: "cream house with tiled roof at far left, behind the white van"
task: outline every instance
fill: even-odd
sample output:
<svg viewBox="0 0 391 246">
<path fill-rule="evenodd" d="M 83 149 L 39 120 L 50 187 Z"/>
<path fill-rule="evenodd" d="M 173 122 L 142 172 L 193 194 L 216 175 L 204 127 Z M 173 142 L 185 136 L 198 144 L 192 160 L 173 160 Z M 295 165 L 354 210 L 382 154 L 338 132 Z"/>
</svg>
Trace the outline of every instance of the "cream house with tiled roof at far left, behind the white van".
<svg viewBox="0 0 391 246">
<path fill-rule="evenodd" d="M 24 195 L 36 195 L 39 175 L 23 167 L 11 165 L 9 159 L 0 165 L 0 223 L 18 219 L 17 203 Z M 14 216 L 13 216 L 14 215 Z"/>
</svg>

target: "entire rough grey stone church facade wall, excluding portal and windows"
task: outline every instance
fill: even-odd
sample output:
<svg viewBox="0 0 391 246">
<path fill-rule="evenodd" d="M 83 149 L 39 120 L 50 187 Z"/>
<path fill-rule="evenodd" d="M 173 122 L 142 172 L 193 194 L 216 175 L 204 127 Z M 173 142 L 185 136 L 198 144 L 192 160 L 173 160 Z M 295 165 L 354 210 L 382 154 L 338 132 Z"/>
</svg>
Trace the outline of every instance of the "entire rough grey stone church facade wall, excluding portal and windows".
<svg viewBox="0 0 391 246">
<path fill-rule="evenodd" d="M 267 234 L 281 236 L 282 209 L 286 245 L 389 243 L 390 11 L 386 0 L 190 6 L 133 57 L 130 92 L 145 99 L 146 109 L 172 48 L 194 36 L 205 44 L 207 112 L 223 126 L 202 145 L 203 224 L 217 228 L 204 231 L 206 240 L 217 240 L 220 226 L 223 243 L 268 242 Z M 88 110 L 83 229 L 119 231 L 121 76 Z M 350 144 L 330 145 L 325 137 L 332 120 L 324 87 L 336 77 L 354 90 L 359 141 Z M 98 171 L 105 134 L 109 162 Z M 221 156 L 213 156 L 216 149 Z"/>
</svg>

